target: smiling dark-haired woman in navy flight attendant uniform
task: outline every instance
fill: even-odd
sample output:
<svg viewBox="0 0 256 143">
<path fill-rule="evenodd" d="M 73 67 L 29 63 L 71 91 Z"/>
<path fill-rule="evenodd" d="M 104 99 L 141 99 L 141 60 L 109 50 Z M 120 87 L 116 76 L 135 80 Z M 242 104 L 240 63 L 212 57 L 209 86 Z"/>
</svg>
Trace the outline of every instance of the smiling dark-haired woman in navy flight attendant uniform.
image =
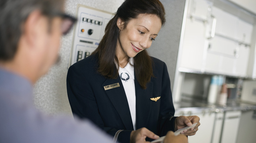
<svg viewBox="0 0 256 143">
<path fill-rule="evenodd" d="M 69 68 L 73 114 L 91 119 L 119 142 L 129 142 L 142 127 L 163 136 L 199 123 L 197 116 L 174 117 L 167 67 L 145 50 L 164 25 L 164 15 L 159 0 L 125 0 L 97 49 Z M 185 135 L 194 135 L 199 124 Z"/>
</svg>

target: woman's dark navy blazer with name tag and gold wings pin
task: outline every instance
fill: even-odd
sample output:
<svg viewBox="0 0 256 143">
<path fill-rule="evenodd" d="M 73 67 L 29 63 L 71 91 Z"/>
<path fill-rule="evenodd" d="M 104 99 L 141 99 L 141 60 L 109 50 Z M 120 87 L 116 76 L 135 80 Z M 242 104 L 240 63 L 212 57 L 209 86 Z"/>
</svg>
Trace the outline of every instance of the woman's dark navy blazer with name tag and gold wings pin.
<svg viewBox="0 0 256 143">
<path fill-rule="evenodd" d="M 135 76 L 136 128 L 146 127 L 159 136 L 174 131 L 174 106 L 166 64 L 153 59 L 151 81 L 144 90 Z M 110 135 L 118 130 L 119 142 L 129 142 L 133 123 L 120 76 L 108 79 L 97 72 L 97 56 L 89 56 L 73 64 L 67 74 L 67 92 L 74 115 L 89 118 Z M 104 87 L 119 83 L 120 87 Z M 152 101 L 150 98 L 160 97 Z"/>
</svg>

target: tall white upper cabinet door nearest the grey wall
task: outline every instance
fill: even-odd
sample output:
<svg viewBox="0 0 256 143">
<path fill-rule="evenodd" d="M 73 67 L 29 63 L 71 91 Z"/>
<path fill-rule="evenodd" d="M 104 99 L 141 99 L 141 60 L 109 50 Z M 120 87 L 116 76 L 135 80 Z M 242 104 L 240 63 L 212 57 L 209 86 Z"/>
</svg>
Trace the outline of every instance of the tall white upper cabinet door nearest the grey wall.
<svg viewBox="0 0 256 143">
<path fill-rule="evenodd" d="M 180 67 L 197 71 L 202 69 L 209 7 L 211 3 L 206 0 L 189 1 Z"/>
</svg>

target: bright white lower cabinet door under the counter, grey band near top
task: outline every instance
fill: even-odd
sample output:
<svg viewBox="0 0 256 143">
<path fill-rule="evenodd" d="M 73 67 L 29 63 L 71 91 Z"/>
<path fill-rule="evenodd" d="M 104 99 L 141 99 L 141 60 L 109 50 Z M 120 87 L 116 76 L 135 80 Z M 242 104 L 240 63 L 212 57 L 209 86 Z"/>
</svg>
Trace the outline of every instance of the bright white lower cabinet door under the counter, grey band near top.
<svg viewBox="0 0 256 143">
<path fill-rule="evenodd" d="M 241 111 L 227 111 L 223 123 L 221 143 L 236 143 Z"/>
</svg>

